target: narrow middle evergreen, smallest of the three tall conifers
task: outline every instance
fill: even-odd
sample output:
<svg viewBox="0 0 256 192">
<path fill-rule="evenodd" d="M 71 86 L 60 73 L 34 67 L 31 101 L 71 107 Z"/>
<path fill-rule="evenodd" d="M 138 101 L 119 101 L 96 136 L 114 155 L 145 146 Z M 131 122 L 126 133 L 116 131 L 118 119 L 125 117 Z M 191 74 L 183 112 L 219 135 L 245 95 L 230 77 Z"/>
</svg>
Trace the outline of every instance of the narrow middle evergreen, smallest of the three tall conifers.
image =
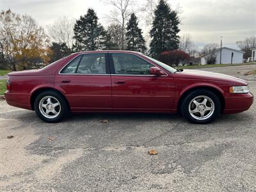
<svg viewBox="0 0 256 192">
<path fill-rule="evenodd" d="M 131 14 L 126 31 L 127 50 L 146 52 L 147 47 L 145 45 L 145 40 L 142 36 L 141 29 L 138 27 L 137 17 L 134 13 Z"/>
</svg>

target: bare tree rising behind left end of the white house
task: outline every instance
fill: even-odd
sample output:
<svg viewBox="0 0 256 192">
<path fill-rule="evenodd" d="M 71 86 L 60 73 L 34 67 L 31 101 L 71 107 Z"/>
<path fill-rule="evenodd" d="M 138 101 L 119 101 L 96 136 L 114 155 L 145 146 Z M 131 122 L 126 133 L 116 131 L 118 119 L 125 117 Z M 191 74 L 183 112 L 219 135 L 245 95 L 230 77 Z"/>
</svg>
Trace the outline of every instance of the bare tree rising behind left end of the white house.
<svg viewBox="0 0 256 192">
<path fill-rule="evenodd" d="M 218 49 L 218 44 L 207 44 L 202 49 L 201 54 L 204 56 L 207 64 L 215 64 L 217 55 L 216 50 Z"/>
</svg>

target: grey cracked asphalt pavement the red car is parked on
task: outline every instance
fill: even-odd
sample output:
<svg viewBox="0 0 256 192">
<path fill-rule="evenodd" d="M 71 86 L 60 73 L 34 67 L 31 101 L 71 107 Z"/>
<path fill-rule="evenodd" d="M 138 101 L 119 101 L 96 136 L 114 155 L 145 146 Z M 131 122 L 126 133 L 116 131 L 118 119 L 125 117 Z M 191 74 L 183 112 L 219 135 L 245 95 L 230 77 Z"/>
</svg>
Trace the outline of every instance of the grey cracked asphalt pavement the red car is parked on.
<svg viewBox="0 0 256 192">
<path fill-rule="evenodd" d="M 163 114 L 46 124 L 0 102 L 0 191 L 255 191 L 255 154 L 256 104 L 209 125 Z"/>
</svg>

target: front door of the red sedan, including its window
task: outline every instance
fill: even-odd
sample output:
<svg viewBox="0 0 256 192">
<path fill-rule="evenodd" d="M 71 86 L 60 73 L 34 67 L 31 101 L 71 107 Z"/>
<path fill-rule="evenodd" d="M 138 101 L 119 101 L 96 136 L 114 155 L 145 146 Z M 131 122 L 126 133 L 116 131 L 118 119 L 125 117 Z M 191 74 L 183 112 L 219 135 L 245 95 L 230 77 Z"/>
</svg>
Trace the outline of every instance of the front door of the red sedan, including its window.
<svg viewBox="0 0 256 192">
<path fill-rule="evenodd" d="M 150 75 L 154 65 L 136 54 L 109 56 L 113 111 L 170 111 L 175 94 L 172 77 Z"/>
</svg>

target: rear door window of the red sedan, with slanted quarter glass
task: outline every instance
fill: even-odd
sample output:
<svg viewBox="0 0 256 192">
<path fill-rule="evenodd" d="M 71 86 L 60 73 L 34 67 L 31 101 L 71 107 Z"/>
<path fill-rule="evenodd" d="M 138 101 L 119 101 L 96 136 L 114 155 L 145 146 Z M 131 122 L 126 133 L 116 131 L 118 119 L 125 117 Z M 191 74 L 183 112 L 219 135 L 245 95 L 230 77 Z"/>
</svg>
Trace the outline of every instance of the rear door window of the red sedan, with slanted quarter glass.
<svg viewBox="0 0 256 192">
<path fill-rule="evenodd" d="M 72 60 L 62 74 L 106 74 L 105 54 L 83 54 Z"/>
</svg>

